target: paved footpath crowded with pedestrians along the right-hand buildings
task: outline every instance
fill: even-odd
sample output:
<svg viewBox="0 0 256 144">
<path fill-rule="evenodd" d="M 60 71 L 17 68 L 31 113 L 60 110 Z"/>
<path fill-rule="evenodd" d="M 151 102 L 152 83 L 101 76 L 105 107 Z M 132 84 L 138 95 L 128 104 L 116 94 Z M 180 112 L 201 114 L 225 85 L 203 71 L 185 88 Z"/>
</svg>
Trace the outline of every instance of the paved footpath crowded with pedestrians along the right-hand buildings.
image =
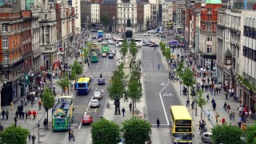
<svg viewBox="0 0 256 144">
<path fill-rule="evenodd" d="M 158 39 L 158 41 L 160 41 L 160 40 Z M 176 54 L 185 55 L 184 50 L 182 52 L 180 50 L 175 50 L 175 51 L 176 51 Z M 164 58 L 164 56 L 162 55 L 162 51 L 160 49 L 158 49 L 158 52 L 162 56 L 162 63 L 166 67 L 166 70 L 170 70 L 168 63 L 166 62 L 166 58 Z M 192 69 L 193 67 L 195 68 L 196 71 L 198 71 L 196 66 L 191 66 L 190 68 Z M 200 83 L 202 81 L 202 78 L 196 78 L 196 80 L 197 80 L 197 83 Z M 180 83 L 172 81 L 170 86 L 174 86 L 176 95 L 178 95 L 178 98 L 180 99 L 182 105 L 186 106 L 186 96 L 182 94 L 182 91 L 180 91 L 180 88 L 181 88 Z M 216 86 L 218 86 L 218 84 L 216 84 L 215 87 Z M 211 131 L 211 129 L 217 124 L 216 120 L 215 120 L 215 115 L 217 113 L 220 115 L 220 118 L 226 119 L 227 124 L 237 125 L 237 123 L 238 123 L 238 102 L 234 102 L 234 98 L 233 97 L 231 98 L 230 96 L 228 97 L 228 100 L 226 100 L 226 96 L 225 96 L 223 89 L 221 90 L 221 93 L 216 94 L 216 95 L 214 95 L 214 94 L 211 95 L 210 90 L 208 90 L 208 91 L 204 90 L 203 96 L 205 96 L 205 98 L 206 98 L 207 94 L 209 94 L 210 100 L 209 100 L 209 102 L 207 102 L 206 106 L 203 106 L 203 108 L 202 108 L 202 119 L 206 120 L 206 127 L 207 127 L 208 131 Z M 214 100 L 217 104 L 215 111 L 212 108 L 212 103 L 211 103 L 212 98 L 214 98 Z M 193 100 L 194 99 L 192 98 L 192 96 L 190 96 L 190 104 Z M 236 115 L 235 115 L 234 121 L 230 120 L 228 112 L 226 110 L 224 110 L 224 108 L 223 108 L 224 102 L 226 102 L 228 105 L 230 105 L 231 110 L 235 112 Z M 190 105 L 190 107 L 188 107 L 188 110 L 189 110 L 190 115 L 194 122 L 193 123 L 194 131 L 195 131 L 194 138 L 198 138 L 198 142 L 200 142 L 199 121 L 201 120 L 201 109 L 200 109 L 200 107 L 197 107 L 197 115 L 196 115 L 196 110 L 192 110 L 191 105 Z M 208 118 L 206 116 L 207 110 L 210 110 L 210 113 L 211 113 L 210 120 L 208 120 Z M 254 124 L 254 120 L 247 119 L 246 124 L 252 125 L 252 124 Z"/>
</svg>

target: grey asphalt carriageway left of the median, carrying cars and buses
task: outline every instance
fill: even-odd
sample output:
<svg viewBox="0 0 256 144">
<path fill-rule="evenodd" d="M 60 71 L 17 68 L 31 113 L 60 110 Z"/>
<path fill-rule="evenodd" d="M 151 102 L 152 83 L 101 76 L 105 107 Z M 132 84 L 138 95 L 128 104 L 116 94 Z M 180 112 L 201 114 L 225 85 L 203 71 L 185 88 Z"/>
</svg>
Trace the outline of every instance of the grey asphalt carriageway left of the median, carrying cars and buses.
<svg viewBox="0 0 256 144">
<path fill-rule="evenodd" d="M 94 40 L 94 42 L 97 41 Z M 110 49 L 115 50 L 116 48 L 114 45 L 110 45 Z M 74 94 L 74 120 L 71 124 L 71 128 L 74 130 L 76 143 L 90 143 L 90 126 L 82 126 L 82 116 L 84 114 L 88 114 L 93 117 L 94 122 L 97 122 L 100 119 L 102 110 L 106 106 L 107 87 L 110 85 L 110 78 L 114 69 L 115 58 L 109 59 L 108 57 L 100 57 L 99 62 L 90 63 L 89 70 L 82 74 L 85 76 L 90 76 L 90 74 L 92 74 L 94 78 L 93 82 L 91 82 L 91 89 L 89 94 Z M 102 78 L 105 78 L 106 84 L 98 86 L 98 78 L 100 77 L 100 74 L 102 74 Z M 101 91 L 103 96 L 102 99 L 99 100 L 100 106 L 98 108 L 90 108 L 90 100 L 94 91 Z M 68 133 L 51 133 L 47 138 L 46 143 L 70 143 L 68 142 Z"/>
</svg>

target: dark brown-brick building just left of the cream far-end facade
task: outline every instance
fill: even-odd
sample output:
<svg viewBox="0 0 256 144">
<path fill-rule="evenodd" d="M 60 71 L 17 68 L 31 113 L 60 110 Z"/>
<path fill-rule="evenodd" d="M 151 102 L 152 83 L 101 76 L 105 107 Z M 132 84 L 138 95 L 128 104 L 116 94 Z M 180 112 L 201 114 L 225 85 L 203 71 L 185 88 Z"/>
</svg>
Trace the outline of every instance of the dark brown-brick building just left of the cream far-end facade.
<svg viewBox="0 0 256 144">
<path fill-rule="evenodd" d="M 101 3 L 101 11 L 100 17 L 103 15 L 109 18 L 109 24 L 107 26 L 103 26 L 104 30 L 115 32 L 116 31 L 116 21 L 117 21 L 117 1 L 116 0 L 103 0 Z M 101 23 L 102 19 L 101 19 Z"/>
</svg>

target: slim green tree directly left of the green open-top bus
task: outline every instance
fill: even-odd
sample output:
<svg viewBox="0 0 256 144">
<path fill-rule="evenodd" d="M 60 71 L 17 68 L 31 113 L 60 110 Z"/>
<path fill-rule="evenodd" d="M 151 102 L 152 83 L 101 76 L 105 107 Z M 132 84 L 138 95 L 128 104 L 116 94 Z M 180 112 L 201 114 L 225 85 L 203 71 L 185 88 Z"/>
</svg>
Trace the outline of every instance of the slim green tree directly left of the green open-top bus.
<svg viewBox="0 0 256 144">
<path fill-rule="evenodd" d="M 48 111 L 54 107 L 54 93 L 46 87 L 42 92 L 42 106 L 47 110 L 47 122 L 48 122 Z"/>
</svg>

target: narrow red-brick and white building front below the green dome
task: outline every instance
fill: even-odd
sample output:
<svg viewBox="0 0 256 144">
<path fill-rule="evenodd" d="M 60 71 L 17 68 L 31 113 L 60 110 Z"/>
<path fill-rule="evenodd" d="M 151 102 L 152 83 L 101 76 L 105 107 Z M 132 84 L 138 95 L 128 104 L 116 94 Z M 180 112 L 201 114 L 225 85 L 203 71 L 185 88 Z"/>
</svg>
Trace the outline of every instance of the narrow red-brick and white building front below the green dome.
<svg viewBox="0 0 256 144">
<path fill-rule="evenodd" d="M 206 7 L 201 10 L 200 20 L 200 54 L 199 66 L 206 70 L 217 70 L 216 66 L 216 29 L 218 23 L 218 9 L 222 8 L 222 1 L 207 0 Z"/>
</svg>

